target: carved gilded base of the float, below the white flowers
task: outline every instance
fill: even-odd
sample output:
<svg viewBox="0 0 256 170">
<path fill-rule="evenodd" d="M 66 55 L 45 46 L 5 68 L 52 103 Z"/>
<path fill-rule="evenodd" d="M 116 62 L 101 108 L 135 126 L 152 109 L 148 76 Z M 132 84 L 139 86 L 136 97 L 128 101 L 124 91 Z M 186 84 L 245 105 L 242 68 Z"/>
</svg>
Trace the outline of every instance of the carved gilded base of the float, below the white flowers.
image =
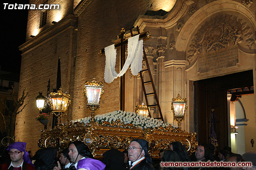
<svg viewBox="0 0 256 170">
<path fill-rule="evenodd" d="M 144 138 L 149 143 L 149 153 L 153 158 L 158 157 L 160 149 L 169 148 L 172 141 L 180 141 L 188 153 L 196 150 L 196 133 L 188 133 L 182 129 L 172 127 L 159 127 L 154 129 L 142 129 L 132 124 L 125 125 L 120 120 L 113 123 L 98 122 L 83 123 L 67 121 L 54 127 L 51 131 L 41 130 L 41 139 L 38 147 L 68 147 L 72 141 L 84 141 L 91 149 L 95 158 L 102 158 L 102 154 L 111 148 L 126 149 L 135 138 Z"/>
</svg>

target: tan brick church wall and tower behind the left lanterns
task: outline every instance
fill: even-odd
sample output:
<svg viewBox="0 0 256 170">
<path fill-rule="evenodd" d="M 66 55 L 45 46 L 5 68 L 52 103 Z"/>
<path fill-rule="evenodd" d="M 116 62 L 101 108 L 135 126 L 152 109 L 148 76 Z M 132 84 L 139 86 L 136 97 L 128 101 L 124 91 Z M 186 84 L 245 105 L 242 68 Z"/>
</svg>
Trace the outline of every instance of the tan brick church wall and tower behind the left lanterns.
<svg viewBox="0 0 256 170">
<path fill-rule="evenodd" d="M 30 4 L 35 2 L 37 1 L 31 0 Z M 74 27 L 67 27 L 47 39 L 40 39 L 50 32 L 56 13 L 62 12 L 62 18 L 65 18 L 68 14 L 72 14 L 73 4 L 78 4 L 78 1 L 56 0 L 50 3 L 60 4 L 61 9 L 49 10 L 47 24 L 40 29 L 37 29 L 38 10 L 29 11 L 26 43 L 20 47 L 22 64 L 19 96 L 25 88 L 29 96 L 25 100 L 26 107 L 17 116 L 16 141 L 27 142 L 27 150 L 31 150 L 32 154 L 39 149 L 37 142 L 40 138 L 40 129 L 44 127 L 35 120 L 39 113 L 35 97 L 38 96 L 38 92 L 43 92 L 46 96 L 49 78 L 50 91 L 55 88 L 58 56 L 61 61 L 62 89 L 71 95 L 68 116 L 62 117 L 62 122 L 90 116 L 83 96 L 84 84 L 86 81 L 91 81 L 93 76 L 96 76 L 98 82 L 104 82 L 105 55 L 98 55 L 99 50 L 113 44 L 122 27 L 126 30 L 132 28 L 139 15 L 145 14 L 147 10 L 159 10 L 169 1 L 141 0 L 135 3 L 124 0 L 109 0 L 108 3 L 102 0 L 92 1 L 78 17 L 77 31 Z M 30 35 L 38 36 L 32 39 Z M 119 72 L 119 60 L 116 61 L 116 71 Z M 102 104 L 96 114 L 118 109 L 119 78 L 111 84 L 104 82 Z M 51 127 L 50 120 L 48 129 Z"/>
</svg>

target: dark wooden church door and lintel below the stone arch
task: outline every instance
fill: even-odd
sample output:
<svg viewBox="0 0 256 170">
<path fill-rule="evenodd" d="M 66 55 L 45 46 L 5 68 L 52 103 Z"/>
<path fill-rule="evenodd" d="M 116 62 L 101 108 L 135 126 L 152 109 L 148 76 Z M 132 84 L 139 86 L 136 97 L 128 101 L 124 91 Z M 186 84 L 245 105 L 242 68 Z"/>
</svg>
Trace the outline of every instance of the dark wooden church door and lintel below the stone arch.
<svg viewBox="0 0 256 170">
<path fill-rule="evenodd" d="M 198 143 L 210 143 L 210 116 L 214 109 L 217 152 L 228 146 L 227 91 L 253 86 L 252 70 L 194 82 L 194 121 Z"/>
</svg>

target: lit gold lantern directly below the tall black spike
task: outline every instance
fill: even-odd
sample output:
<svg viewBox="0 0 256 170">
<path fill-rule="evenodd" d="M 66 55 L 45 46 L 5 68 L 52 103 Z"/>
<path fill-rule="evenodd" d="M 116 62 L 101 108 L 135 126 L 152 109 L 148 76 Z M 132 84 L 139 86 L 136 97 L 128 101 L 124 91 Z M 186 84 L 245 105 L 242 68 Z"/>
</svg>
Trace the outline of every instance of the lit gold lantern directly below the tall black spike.
<svg viewBox="0 0 256 170">
<path fill-rule="evenodd" d="M 70 105 L 70 95 L 63 92 L 60 88 L 57 92 L 50 93 L 50 106 L 52 113 L 57 117 L 57 125 L 60 125 L 62 115 L 67 114 L 68 106 Z"/>
</svg>

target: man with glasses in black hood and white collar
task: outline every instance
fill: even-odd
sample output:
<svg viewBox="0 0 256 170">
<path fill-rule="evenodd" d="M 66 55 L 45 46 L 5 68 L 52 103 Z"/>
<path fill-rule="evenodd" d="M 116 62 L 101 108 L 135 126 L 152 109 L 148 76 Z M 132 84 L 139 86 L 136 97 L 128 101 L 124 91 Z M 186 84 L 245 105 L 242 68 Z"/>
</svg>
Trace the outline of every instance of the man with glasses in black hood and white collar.
<svg viewBox="0 0 256 170">
<path fill-rule="evenodd" d="M 128 147 L 129 170 L 154 170 L 148 154 L 148 142 L 134 139 Z"/>
</svg>

